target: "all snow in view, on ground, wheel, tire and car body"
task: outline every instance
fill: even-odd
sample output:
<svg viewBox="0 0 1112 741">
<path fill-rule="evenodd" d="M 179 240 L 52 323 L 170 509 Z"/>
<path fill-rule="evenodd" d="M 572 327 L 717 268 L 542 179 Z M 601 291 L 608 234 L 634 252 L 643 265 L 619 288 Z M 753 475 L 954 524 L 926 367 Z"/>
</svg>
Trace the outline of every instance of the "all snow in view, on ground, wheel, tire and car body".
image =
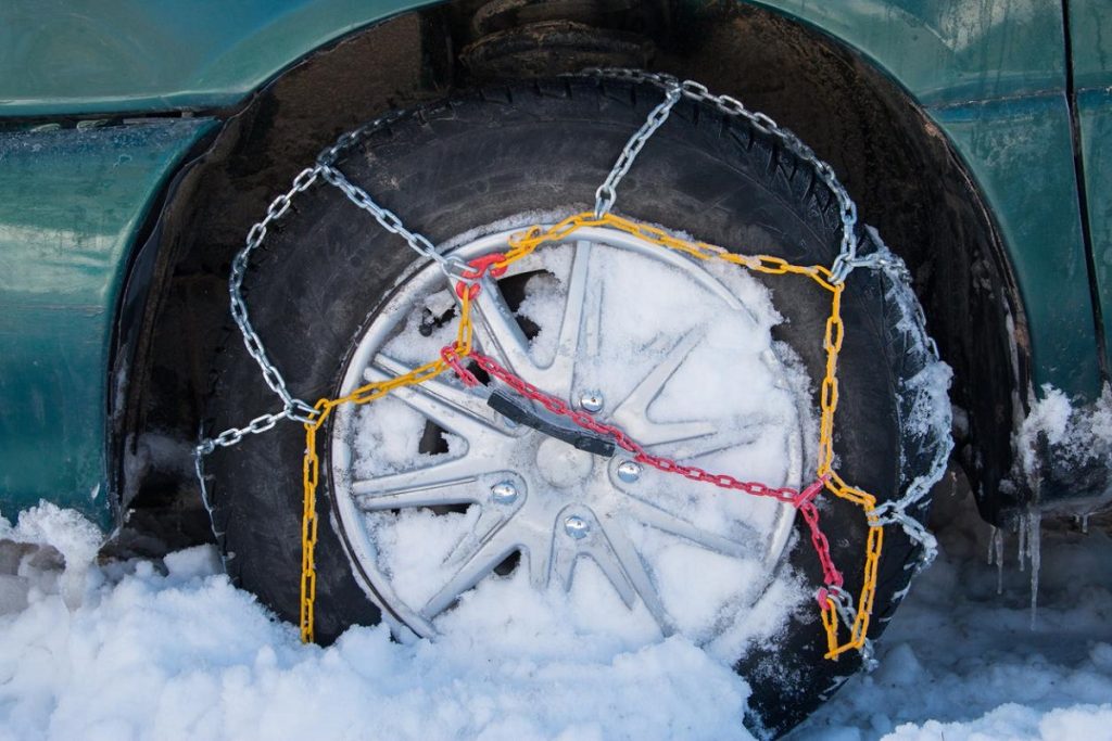
<svg viewBox="0 0 1112 741">
<path fill-rule="evenodd" d="M 667 267 L 626 262 L 615 271 L 605 254 L 593 259 L 626 277 L 595 297 L 598 311 L 622 317 L 651 291 L 659 316 L 626 312 L 624 323 L 607 327 L 608 347 L 583 364 L 589 388 L 623 398 L 677 338 L 695 332 L 683 372 L 713 379 L 722 377 L 714 369 L 729 367 L 746 382 L 665 388 L 647 415 L 664 423 L 714 419 L 727 438 L 744 441 L 741 454 L 726 447 L 702 455 L 707 468 L 790 479 L 790 435 L 768 431 L 793 424 L 803 430 L 803 460 L 814 460 L 816 423 L 798 409 L 812 389 L 790 348 L 772 341 L 782 319 L 757 281 L 737 270 L 715 273 L 742 301 L 731 311 L 708 310 L 683 290 L 689 279 Z M 525 286 L 517 312 L 540 327 L 530 352 L 544 367 L 559 350 L 548 328 L 559 324 L 572 260 L 558 248 L 530 260 L 519 268 L 546 272 Z M 903 329 L 921 333 L 914 307 L 895 299 Z M 427 336 L 417 328 L 450 306 L 439 291 L 399 312 L 397 336 L 407 341 L 388 348 L 394 357 L 434 357 L 454 328 Z M 912 437 L 931 457 L 903 505 L 914 504 L 945 464 L 949 382 L 945 366 L 926 362 L 901 389 Z M 1023 450 L 1042 433 L 1069 454 L 1106 455 L 1112 391 L 1084 412 L 1052 389 L 1044 395 L 1021 431 Z M 415 453 L 425 418 L 397 399 L 359 410 L 353 429 L 357 477 L 410 470 L 430 458 Z M 446 433 L 445 441 L 448 460 L 467 453 L 461 435 Z M 663 491 L 656 504 L 719 534 L 723 523 L 759 524 L 774 514 L 767 502 L 708 498 L 697 484 Z M 970 499 L 943 498 L 935 507 L 941 558 L 892 620 L 877 647 L 880 668 L 850 679 L 794 739 L 1112 739 L 1108 527 L 1083 534 L 1027 514 L 1017 563 L 1005 563 L 1005 533 L 982 525 Z M 460 533 L 476 529 L 479 509 L 368 517 L 401 600 L 421 603 L 443 583 L 443 563 Z M 42 504 L 16 525 L 0 519 L 0 741 L 749 738 L 741 723 L 749 688 L 729 667 L 774 635 L 796 605 L 813 608 L 805 590 L 787 570 L 765 583 L 756 559 L 727 558 L 651 527 L 629 537 L 654 564 L 678 634 L 662 637 L 644 604 L 624 604 L 596 562 L 579 559 L 567 590 L 538 593 L 525 569 L 483 580 L 437 618 L 435 641 L 409 634 L 398 642 L 385 625 L 356 627 L 320 648 L 301 645 L 294 627 L 235 589 L 214 549 L 97 563 L 96 528 Z M 985 549 L 996 569 L 984 562 Z M 758 588 L 761 599 L 748 593 Z"/>
</svg>

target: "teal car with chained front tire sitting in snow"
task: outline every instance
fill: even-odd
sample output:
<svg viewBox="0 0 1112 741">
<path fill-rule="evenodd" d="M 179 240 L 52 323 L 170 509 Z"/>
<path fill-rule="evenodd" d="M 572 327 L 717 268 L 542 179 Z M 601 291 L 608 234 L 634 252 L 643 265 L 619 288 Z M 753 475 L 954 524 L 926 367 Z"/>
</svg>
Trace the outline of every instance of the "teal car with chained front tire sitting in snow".
<svg viewBox="0 0 1112 741">
<path fill-rule="evenodd" d="M 1112 495 L 1096 0 L 80 4 L 0 9 L 7 517 L 307 640 L 682 632 L 775 735 L 944 473 Z"/>
</svg>

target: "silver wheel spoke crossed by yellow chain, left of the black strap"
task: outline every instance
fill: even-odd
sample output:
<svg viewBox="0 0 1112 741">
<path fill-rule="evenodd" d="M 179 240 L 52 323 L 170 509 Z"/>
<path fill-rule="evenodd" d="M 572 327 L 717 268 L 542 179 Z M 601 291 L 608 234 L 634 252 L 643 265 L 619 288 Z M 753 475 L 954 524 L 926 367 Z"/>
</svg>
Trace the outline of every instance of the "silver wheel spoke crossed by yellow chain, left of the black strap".
<svg viewBox="0 0 1112 741">
<path fill-rule="evenodd" d="M 364 377 L 368 381 L 385 381 L 410 370 L 413 369 L 405 363 L 379 353 L 364 372 Z M 477 438 L 489 438 L 492 433 L 504 438 L 514 437 L 502 427 L 500 415 L 487 407 L 481 397 L 445 381 L 433 379 L 417 385 L 403 387 L 395 389 L 390 395 L 468 442 Z"/>
</svg>

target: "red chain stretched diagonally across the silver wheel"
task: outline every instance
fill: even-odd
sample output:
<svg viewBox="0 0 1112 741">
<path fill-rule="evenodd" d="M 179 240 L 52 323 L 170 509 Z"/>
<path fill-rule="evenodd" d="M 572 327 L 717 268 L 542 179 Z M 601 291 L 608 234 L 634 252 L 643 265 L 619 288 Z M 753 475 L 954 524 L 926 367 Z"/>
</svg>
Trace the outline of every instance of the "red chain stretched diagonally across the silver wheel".
<svg viewBox="0 0 1112 741">
<path fill-rule="evenodd" d="M 459 363 L 459 356 L 455 348 L 449 346 L 441 350 L 440 354 L 448 362 L 448 364 L 451 366 L 453 370 L 459 374 L 460 380 L 465 384 L 473 385 L 469 381 L 475 380 L 475 377 Z M 841 588 L 844 583 L 842 572 L 837 570 L 834 565 L 834 560 L 831 558 L 830 541 L 818 527 L 818 508 L 815 507 L 814 503 L 815 497 L 817 497 L 818 493 L 826 487 L 830 474 L 820 478 L 817 481 L 814 481 L 802 490 L 792 489 L 791 487 L 774 489 L 758 481 L 741 481 L 739 479 L 735 479 L 728 474 L 709 473 L 694 465 L 684 465 L 683 463 L 674 461 L 669 458 L 653 455 L 652 453 L 645 452 L 645 449 L 637 441 L 627 435 L 620 428 L 614 427 L 613 424 L 605 424 L 596 420 L 587 412 L 572 409 L 563 399 L 545 393 L 525 379 L 510 373 L 508 370 L 495 362 L 495 360 L 489 356 L 485 356 L 473 349 L 468 357 L 474 360 L 479 368 L 489 373 L 492 378 L 498 379 L 523 397 L 540 403 L 540 405 L 552 413 L 566 417 L 584 430 L 588 430 L 614 440 L 616 445 L 633 453 L 634 460 L 638 463 L 651 465 L 658 471 L 664 471 L 665 473 L 677 473 L 685 479 L 691 479 L 692 481 L 714 484 L 719 489 L 732 489 L 746 494 L 752 494 L 754 497 L 770 497 L 784 502 L 785 504 L 791 504 L 795 509 L 800 510 L 804 521 L 807 523 L 807 528 L 811 530 L 811 543 L 814 545 L 815 553 L 818 555 L 818 562 L 822 564 L 823 582 L 825 585 Z M 826 589 L 821 589 L 818 591 L 818 603 L 823 610 L 826 610 L 830 607 L 825 600 L 826 594 Z"/>
</svg>

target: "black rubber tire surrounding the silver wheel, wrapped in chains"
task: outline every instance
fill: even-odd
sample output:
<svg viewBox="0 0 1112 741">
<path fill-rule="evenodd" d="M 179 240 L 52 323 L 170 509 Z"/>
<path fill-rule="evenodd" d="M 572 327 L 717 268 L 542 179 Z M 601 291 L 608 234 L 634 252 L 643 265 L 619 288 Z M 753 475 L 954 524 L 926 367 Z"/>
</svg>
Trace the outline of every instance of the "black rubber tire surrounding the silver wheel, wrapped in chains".
<svg viewBox="0 0 1112 741">
<path fill-rule="evenodd" d="M 522 212 L 587 210 L 626 139 L 661 99 L 655 88 L 587 79 L 485 89 L 368 132 L 339 167 L 436 242 Z M 676 106 L 622 183 L 617 210 L 731 249 L 806 264 L 830 264 L 841 234 L 833 196 L 811 166 L 745 122 L 689 101 Z M 280 226 L 252 260 L 247 301 L 292 392 L 311 402 L 336 393 L 347 353 L 414 254 L 324 183 L 298 196 L 295 212 Z M 788 319 L 777 339 L 800 354 L 817 389 L 828 298 L 804 279 L 765 282 Z M 904 309 L 893 302 L 892 288 L 878 273 L 857 271 L 850 279 L 835 440 L 842 475 L 880 501 L 898 497 L 933 454 L 932 443 L 905 429 L 912 400 L 905 398 L 904 381 L 929 356 L 923 337 L 896 329 Z M 231 337 L 217 361 L 210 407 L 216 430 L 275 404 L 258 368 Z M 300 425 L 282 424 L 219 451 L 209 465 L 229 572 L 294 622 L 302 447 Z M 326 461 L 322 471 L 328 470 Z M 329 497 L 325 477 L 316 622 L 325 641 L 353 623 L 379 619 L 353 578 Z M 866 533 L 861 510 L 826 501 L 822 518 L 833 558 L 846 572 L 846 589 L 856 594 Z M 797 527 L 792 564 L 818 585 L 817 561 Z M 909 539 L 888 529 L 872 637 L 895 609 L 914 557 Z M 783 733 L 858 668 L 856 652 L 824 660 L 824 644 L 817 611 L 808 604 L 774 644 L 737 665 L 754 692 L 747 724 Z"/>
</svg>

